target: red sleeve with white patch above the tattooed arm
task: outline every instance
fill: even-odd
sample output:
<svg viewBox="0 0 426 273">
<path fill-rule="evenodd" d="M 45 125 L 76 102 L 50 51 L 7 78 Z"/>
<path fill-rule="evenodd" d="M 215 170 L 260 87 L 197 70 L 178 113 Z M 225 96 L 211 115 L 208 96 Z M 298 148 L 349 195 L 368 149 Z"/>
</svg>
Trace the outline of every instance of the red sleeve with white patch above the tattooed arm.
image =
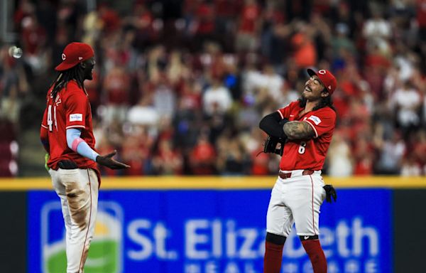
<svg viewBox="0 0 426 273">
<path fill-rule="evenodd" d="M 336 126 L 336 112 L 332 109 L 321 109 L 309 114 L 304 122 L 310 124 L 315 131 L 315 137 L 320 137 L 322 134 L 330 132 Z"/>
</svg>

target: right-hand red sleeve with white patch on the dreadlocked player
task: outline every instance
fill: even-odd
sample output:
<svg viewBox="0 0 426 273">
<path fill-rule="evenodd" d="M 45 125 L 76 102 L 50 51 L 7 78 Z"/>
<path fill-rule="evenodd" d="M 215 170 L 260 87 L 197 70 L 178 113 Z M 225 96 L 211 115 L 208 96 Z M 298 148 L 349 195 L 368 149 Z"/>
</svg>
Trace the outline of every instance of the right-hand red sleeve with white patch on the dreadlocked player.
<svg viewBox="0 0 426 273">
<path fill-rule="evenodd" d="M 80 90 L 73 90 L 65 102 L 65 129 L 86 128 L 87 97 Z"/>
</svg>

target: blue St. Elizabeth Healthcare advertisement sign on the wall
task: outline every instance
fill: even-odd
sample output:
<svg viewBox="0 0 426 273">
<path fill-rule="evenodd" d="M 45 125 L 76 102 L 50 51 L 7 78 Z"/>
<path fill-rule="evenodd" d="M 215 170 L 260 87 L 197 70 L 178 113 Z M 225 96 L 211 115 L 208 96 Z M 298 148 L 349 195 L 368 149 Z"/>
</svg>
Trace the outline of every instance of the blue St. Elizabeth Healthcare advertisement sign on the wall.
<svg viewBox="0 0 426 273">
<path fill-rule="evenodd" d="M 261 273 L 271 191 L 100 191 L 85 273 Z M 392 272 L 391 191 L 339 190 L 324 203 L 329 272 Z M 312 272 L 295 230 L 283 273 Z M 28 272 L 65 272 L 65 227 L 53 191 L 28 193 Z"/>
</svg>

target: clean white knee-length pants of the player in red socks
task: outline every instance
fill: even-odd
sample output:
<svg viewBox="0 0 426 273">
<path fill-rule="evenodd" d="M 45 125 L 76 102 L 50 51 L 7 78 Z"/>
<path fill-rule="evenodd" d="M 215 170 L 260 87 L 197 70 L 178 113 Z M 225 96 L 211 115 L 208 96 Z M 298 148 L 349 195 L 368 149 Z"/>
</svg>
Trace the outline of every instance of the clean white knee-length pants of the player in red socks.
<svg viewBox="0 0 426 273">
<path fill-rule="evenodd" d="M 320 234 L 320 206 L 326 196 L 324 181 L 321 171 L 305 176 L 302 171 L 291 171 L 290 178 L 278 176 L 266 215 L 267 232 L 288 237 L 295 223 L 299 236 Z"/>
</svg>

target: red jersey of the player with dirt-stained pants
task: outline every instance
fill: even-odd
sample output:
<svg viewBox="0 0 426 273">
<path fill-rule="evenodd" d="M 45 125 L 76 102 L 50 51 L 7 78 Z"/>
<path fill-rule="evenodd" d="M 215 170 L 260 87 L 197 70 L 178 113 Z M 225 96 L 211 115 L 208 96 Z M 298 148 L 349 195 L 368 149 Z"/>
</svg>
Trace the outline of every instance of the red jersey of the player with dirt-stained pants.
<svg viewBox="0 0 426 273">
<path fill-rule="evenodd" d="M 79 168 L 97 170 L 96 162 L 77 154 L 67 145 L 67 129 L 76 128 L 82 132 L 80 137 L 94 149 L 92 112 L 87 93 L 75 80 L 68 82 L 66 87 L 58 92 L 55 101 L 50 97 L 51 92 L 52 88 L 48 92 L 48 102 L 41 123 L 41 126 L 48 130 L 49 168 L 57 170 L 58 161 L 67 159 L 74 161 Z"/>
</svg>

